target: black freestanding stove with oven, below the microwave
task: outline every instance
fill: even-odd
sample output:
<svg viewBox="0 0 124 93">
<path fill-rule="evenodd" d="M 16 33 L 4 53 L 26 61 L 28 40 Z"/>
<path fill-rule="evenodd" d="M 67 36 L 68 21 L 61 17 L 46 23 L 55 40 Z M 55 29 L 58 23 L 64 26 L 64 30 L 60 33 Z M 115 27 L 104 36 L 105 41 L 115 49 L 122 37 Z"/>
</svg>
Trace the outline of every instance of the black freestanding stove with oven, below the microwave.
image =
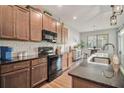
<svg viewBox="0 0 124 93">
<path fill-rule="evenodd" d="M 39 47 L 39 57 L 47 56 L 48 81 L 54 80 L 62 73 L 62 56 L 56 55 L 53 47 Z"/>
</svg>

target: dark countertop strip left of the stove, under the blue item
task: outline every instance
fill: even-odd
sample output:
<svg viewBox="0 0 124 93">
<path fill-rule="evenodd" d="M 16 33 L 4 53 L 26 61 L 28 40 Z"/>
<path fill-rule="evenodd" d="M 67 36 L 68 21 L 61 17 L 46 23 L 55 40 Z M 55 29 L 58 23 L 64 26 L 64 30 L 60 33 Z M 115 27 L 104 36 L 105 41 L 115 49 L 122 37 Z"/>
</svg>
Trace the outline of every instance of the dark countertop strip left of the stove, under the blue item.
<svg viewBox="0 0 124 93">
<path fill-rule="evenodd" d="M 45 55 L 41 56 L 41 57 L 38 57 L 36 55 L 30 55 L 27 57 L 22 57 L 21 59 L 20 58 L 13 58 L 11 61 L 0 61 L 0 65 L 11 64 L 11 63 L 21 62 L 21 61 L 28 61 L 28 60 L 38 59 L 38 58 L 42 58 L 42 57 L 45 57 Z"/>
</svg>

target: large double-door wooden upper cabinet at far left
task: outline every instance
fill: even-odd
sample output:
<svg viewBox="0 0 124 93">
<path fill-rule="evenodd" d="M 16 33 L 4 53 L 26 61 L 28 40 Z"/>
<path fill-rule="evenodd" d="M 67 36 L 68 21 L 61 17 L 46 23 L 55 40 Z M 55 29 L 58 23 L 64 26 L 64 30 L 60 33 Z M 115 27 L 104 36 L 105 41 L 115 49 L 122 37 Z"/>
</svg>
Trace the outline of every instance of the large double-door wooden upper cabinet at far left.
<svg viewBox="0 0 124 93">
<path fill-rule="evenodd" d="M 29 40 L 29 11 L 19 6 L 0 6 L 0 38 Z"/>
</svg>

